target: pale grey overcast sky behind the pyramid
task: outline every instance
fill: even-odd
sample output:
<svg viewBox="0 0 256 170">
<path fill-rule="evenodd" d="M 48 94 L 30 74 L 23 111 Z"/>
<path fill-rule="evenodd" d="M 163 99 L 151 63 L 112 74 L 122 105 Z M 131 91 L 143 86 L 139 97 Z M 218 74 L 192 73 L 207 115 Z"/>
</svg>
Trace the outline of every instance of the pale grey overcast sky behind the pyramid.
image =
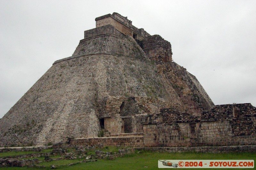
<svg viewBox="0 0 256 170">
<path fill-rule="evenodd" d="M 95 18 L 118 12 L 172 44 L 215 105 L 256 106 L 256 1 L 0 0 L 0 118 L 73 54 Z"/>
</svg>

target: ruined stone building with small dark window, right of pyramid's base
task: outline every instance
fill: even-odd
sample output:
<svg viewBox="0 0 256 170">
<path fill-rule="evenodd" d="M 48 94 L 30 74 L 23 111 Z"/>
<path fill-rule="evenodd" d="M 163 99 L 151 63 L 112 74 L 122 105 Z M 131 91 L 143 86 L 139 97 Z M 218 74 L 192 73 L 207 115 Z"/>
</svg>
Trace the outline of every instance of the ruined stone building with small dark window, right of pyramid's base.
<svg viewBox="0 0 256 170">
<path fill-rule="evenodd" d="M 180 112 L 175 108 L 162 108 L 158 114 L 158 117 L 162 117 L 160 118 L 162 124 L 143 124 L 144 144 L 146 146 L 154 146 L 153 143 L 157 146 L 170 146 L 176 143 L 182 146 L 254 145 L 255 111 L 256 108 L 250 103 L 217 105 L 211 111 L 204 112 L 202 116 Z M 183 138 L 186 139 L 186 143 L 182 142 Z"/>
</svg>

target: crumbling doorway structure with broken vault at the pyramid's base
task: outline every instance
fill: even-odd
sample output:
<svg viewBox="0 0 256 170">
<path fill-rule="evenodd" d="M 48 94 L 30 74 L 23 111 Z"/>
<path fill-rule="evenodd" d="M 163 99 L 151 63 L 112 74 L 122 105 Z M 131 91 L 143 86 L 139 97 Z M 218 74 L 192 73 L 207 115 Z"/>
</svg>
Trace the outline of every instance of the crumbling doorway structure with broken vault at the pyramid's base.
<svg viewBox="0 0 256 170">
<path fill-rule="evenodd" d="M 158 113 L 164 104 L 149 97 L 110 97 L 100 117 L 111 134 L 142 132 L 145 116 Z"/>
</svg>

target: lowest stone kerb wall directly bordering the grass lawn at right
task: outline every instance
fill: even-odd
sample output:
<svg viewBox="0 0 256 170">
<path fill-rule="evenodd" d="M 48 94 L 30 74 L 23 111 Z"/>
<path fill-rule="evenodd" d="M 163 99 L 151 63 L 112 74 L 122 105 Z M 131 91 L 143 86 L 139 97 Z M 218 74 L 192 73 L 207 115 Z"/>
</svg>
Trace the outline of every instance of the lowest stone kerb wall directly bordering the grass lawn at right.
<svg viewBox="0 0 256 170">
<path fill-rule="evenodd" d="M 242 146 L 200 146 L 200 147 L 146 147 L 134 148 L 139 151 L 153 152 L 203 152 L 203 153 L 228 153 L 228 152 L 255 152 L 256 145 Z"/>
</svg>

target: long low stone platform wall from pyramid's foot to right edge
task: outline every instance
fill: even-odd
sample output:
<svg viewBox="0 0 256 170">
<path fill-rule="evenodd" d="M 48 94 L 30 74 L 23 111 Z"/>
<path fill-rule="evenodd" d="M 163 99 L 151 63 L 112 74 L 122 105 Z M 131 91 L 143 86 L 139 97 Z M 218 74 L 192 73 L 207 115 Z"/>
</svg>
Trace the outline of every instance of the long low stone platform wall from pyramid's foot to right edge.
<svg viewBox="0 0 256 170">
<path fill-rule="evenodd" d="M 166 130 L 166 129 L 165 129 Z M 168 129 L 167 129 L 168 130 Z M 168 130 L 169 131 L 169 130 Z M 148 134 L 149 135 L 149 134 Z M 147 135 L 145 135 L 147 136 Z M 256 145 L 256 135 L 231 136 L 231 137 L 197 137 L 183 138 L 179 135 L 173 136 L 167 141 L 162 137 L 97 137 L 71 139 L 70 145 L 103 145 L 103 146 L 130 146 L 130 147 L 201 147 L 201 146 L 241 146 Z"/>
</svg>

